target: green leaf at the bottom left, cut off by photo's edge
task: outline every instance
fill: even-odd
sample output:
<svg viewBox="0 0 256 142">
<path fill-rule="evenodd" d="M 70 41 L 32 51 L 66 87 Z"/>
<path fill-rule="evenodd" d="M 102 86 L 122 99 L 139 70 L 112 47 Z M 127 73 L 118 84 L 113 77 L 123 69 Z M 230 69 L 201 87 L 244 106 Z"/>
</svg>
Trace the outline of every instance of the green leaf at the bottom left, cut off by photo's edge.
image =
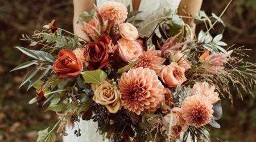
<svg viewBox="0 0 256 142">
<path fill-rule="evenodd" d="M 38 132 L 38 139 L 36 142 L 54 142 L 56 135 L 53 131 L 48 132 L 49 127 L 46 130 Z"/>
</svg>

